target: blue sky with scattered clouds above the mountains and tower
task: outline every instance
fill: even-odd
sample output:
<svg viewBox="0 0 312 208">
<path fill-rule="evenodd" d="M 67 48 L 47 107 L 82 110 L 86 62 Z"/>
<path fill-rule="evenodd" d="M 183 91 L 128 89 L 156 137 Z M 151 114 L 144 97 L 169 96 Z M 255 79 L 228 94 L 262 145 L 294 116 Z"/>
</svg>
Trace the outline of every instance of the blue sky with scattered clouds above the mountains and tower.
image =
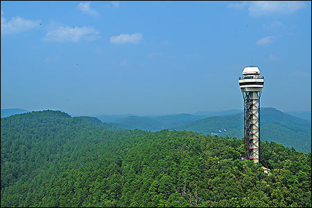
<svg viewBox="0 0 312 208">
<path fill-rule="evenodd" d="M 1 109 L 311 110 L 311 1 L 1 1 Z"/>
</svg>

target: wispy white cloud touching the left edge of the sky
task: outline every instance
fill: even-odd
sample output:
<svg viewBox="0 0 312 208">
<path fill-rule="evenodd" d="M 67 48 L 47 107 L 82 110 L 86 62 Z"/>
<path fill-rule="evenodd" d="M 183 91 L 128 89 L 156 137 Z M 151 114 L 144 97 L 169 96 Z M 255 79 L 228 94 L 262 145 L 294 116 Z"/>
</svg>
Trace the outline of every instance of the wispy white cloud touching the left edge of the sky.
<svg viewBox="0 0 312 208">
<path fill-rule="evenodd" d="M 6 21 L 3 17 L 3 10 L 1 10 L 1 33 L 11 34 L 22 31 L 29 31 L 40 26 L 40 20 L 28 20 L 21 17 L 13 17 L 10 21 Z"/>
</svg>

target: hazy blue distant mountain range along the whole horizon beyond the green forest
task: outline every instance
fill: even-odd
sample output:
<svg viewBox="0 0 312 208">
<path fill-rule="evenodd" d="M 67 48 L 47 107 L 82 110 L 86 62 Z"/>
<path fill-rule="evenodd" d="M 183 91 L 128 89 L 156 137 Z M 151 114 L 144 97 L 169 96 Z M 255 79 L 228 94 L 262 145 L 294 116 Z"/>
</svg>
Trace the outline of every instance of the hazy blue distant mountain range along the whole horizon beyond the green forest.
<svg viewBox="0 0 312 208">
<path fill-rule="evenodd" d="M 28 112 L 22 109 L 1 110 L 1 117 Z M 261 140 L 275 141 L 304 153 L 311 151 L 311 120 L 309 112 L 286 114 L 272 107 L 261 108 Z M 195 112 L 162 116 L 98 115 L 80 116 L 93 125 L 107 130 L 140 129 L 148 131 L 187 130 L 204 135 L 243 138 L 243 110 Z M 311 112 L 310 112 L 311 117 Z"/>
</svg>

